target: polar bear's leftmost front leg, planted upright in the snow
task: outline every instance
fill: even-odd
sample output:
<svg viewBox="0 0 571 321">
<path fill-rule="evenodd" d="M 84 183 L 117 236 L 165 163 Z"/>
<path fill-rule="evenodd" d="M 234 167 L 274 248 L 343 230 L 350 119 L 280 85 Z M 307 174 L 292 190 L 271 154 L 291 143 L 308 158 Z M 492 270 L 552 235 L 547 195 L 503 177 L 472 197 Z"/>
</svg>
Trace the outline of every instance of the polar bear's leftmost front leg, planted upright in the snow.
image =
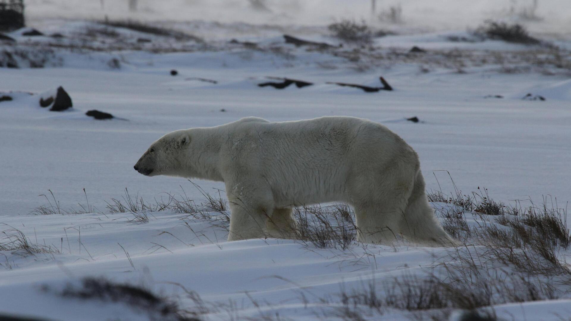
<svg viewBox="0 0 571 321">
<path fill-rule="evenodd" d="M 252 180 L 226 183 L 230 203 L 230 232 L 228 240 L 267 238 L 266 222 L 274 210 L 274 198 L 269 188 Z"/>
</svg>

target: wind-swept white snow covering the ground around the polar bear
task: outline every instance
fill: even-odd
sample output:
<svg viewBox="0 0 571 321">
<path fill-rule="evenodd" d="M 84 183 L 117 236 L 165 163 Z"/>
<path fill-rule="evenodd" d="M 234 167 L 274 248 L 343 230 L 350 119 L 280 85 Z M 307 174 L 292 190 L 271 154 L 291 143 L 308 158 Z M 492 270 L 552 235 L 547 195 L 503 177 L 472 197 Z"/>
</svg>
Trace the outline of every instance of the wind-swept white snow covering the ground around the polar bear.
<svg viewBox="0 0 571 321">
<path fill-rule="evenodd" d="M 407 34 L 375 38 L 371 49 L 345 45 L 308 50 L 284 43 L 282 33 L 335 45 L 339 41 L 325 35 L 325 27 L 305 21 L 306 26 L 276 28 L 230 18 L 230 23 L 162 22 L 204 38 L 174 41 L 95 22 L 47 19 L 51 11 L 39 19 L 42 8 L 65 3 L 30 3 L 35 19 L 29 24 L 65 38 L 26 37 L 19 30 L 9 34 L 15 44 L 0 45 L 17 53 L 22 66 L 0 69 L 0 96 L 13 97 L 0 102 L 0 231 L 5 231 L 0 250 L 2 244 L 13 248 L 6 245 L 17 239 L 13 229 L 38 246 L 27 252 L 0 251 L 0 313 L 54 320 L 160 319 L 123 303 L 59 296 L 66 286 L 79 287 L 85 276 L 104 276 L 175 296 L 181 308 L 197 311 L 200 304 L 172 283 L 180 284 L 205 302 L 199 316 L 204 319 L 401 319 L 410 317 L 409 312 L 386 302 L 382 307 L 361 301 L 352 306 L 343 302 L 342 294 L 370 293 L 373 284 L 373 292 L 386 297 L 395 294 L 388 285 L 395 278 L 425 278 L 440 273 L 443 264 L 457 266 L 459 251 L 464 257 L 468 252 L 481 255 L 478 251 L 486 248 L 475 239 L 464 249 L 358 243 L 319 248 L 276 239 L 228 243 L 224 220 L 190 219 L 169 209 L 148 211 L 149 221 L 136 224 L 129 211 L 109 213 L 112 198 L 124 202 L 125 188 L 150 203 L 168 200 L 168 194 L 197 203 L 204 198 L 184 179 L 148 178 L 132 168 L 151 142 L 177 129 L 247 116 L 270 121 L 324 115 L 367 118 L 388 126 L 419 153 L 429 191 L 454 196 L 456 186 L 472 195 L 478 186 L 486 187 L 494 200 L 516 204 L 512 200 L 520 199 L 524 207 L 529 206 L 525 199 L 542 203 L 547 195 L 552 195 L 549 205 L 557 202 L 554 207 L 565 208 L 571 200 L 571 43 L 564 31 L 548 39 L 557 42 L 558 50 L 492 40 L 452 42 L 451 36 L 471 35 L 462 28 L 442 31 L 441 26 L 423 34 L 405 26 Z M 561 10 L 557 17 L 569 17 L 565 14 Z M 232 38 L 258 44 L 228 43 Z M 408 53 L 412 46 L 428 52 Z M 45 68 L 29 68 L 31 60 L 42 61 Z M 178 75 L 171 76 L 171 69 Z M 258 87 L 268 76 L 314 85 Z M 380 86 L 380 76 L 395 90 L 364 93 L 327 83 L 374 87 Z M 39 107 L 39 94 L 58 86 L 70 94 L 73 109 L 56 113 Z M 545 101 L 522 99 L 528 93 Z M 91 109 L 123 119 L 96 121 L 85 115 Z M 406 120 L 415 116 L 419 123 Z M 193 182 L 212 195 L 218 195 L 212 188 L 223 189 L 222 183 Z M 29 215 L 40 206 L 81 214 Z M 493 218 L 486 221 L 464 212 L 471 227 L 496 224 Z M 569 250 L 560 250 L 557 256 L 565 260 Z M 494 262 L 492 267 L 482 263 L 482 270 L 519 275 L 509 274 L 509 264 Z M 541 297 L 520 304 L 494 299 L 498 317 L 559 320 L 571 314 L 569 283 L 554 279 L 565 279 L 565 274 L 544 274 L 538 273 L 538 284 L 558 284 L 558 300 Z M 498 280 L 496 276 L 492 279 Z M 427 316 L 425 312 L 420 315 Z"/>
</svg>

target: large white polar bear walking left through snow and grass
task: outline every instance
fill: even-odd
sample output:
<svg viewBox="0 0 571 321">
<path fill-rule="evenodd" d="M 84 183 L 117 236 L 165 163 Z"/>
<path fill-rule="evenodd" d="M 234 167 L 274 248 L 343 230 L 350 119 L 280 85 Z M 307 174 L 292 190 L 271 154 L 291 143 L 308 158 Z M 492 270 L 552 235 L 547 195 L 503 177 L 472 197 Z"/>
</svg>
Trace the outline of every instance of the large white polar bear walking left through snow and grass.
<svg viewBox="0 0 571 321">
<path fill-rule="evenodd" d="M 416 152 L 365 119 L 247 117 L 176 130 L 152 143 L 134 168 L 224 182 L 228 240 L 294 238 L 292 206 L 345 202 L 355 209 L 361 242 L 387 244 L 399 234 L 428 245 L 454 242 L 428 204 Z"/>
</svg>

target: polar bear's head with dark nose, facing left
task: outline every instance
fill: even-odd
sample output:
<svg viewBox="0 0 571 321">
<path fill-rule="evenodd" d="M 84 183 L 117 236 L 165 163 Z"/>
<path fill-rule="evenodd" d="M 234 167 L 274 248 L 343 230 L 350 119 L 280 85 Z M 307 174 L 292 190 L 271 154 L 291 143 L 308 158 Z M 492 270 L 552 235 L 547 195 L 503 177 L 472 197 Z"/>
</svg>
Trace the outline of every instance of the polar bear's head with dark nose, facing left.
<svg viewBox="0 0 571 321">
<path fill-rule="evenodd" d="M 178 176 L 190 141 L 187 130 L 168 133 L 152 143 L 133 168 L 146 176 Z"/>
</svg>

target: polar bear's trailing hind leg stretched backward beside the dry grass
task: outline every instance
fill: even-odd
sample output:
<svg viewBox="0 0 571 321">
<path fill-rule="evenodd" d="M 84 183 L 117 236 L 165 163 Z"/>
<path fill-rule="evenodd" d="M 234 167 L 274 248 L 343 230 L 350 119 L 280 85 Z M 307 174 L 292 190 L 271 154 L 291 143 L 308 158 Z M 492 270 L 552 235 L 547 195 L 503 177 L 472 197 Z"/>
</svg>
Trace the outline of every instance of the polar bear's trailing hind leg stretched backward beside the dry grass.
<svg viewBox="0 0 571 321">
<path fill-rule="evenodd" d="M 428 203 L 424 177 L 420 169 L 416 172 L 412 193 L 408 198 L 403 222 L 401 222 L 401 233 L 412 242 L 429 246 L 456 246 L 458 244 L 444 231 L 433 208 Z"/>
</svg>

